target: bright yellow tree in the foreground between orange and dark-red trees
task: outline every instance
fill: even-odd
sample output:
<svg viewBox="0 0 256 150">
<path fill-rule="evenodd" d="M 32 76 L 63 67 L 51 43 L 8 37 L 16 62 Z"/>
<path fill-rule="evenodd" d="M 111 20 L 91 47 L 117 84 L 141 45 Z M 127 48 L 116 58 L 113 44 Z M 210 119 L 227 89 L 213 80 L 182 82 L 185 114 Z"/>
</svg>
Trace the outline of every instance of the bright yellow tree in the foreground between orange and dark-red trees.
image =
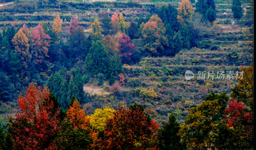
<svg viewBox="0 0 256 150">
<path fill-rule="evenodd" d="M 97 130 L 104 130 L 108 119 L 113 118 L 114 109 L 103 107 L 103 109 L 96 109 L 91 115 L 90 124 Z"/>
</svg>

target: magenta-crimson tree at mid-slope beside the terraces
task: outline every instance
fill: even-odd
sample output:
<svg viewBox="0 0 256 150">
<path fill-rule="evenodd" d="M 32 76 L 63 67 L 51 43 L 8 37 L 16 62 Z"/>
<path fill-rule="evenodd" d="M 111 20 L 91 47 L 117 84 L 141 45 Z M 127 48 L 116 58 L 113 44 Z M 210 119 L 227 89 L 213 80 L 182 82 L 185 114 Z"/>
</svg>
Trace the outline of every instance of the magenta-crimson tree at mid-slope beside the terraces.
<svg viewBox="0 0 256 150">
<path fill-rule="evenodd" d="M 136 49 L 135 45 L 131 43 L 130 37 L 123 33 L 122 37 L 119 37 L 119 47 L 118 50 L 120 51 L 120 56 L 122 62 L 124 60 L 129 62 L 131 60 L 130 56 L 133 54 L 133 51 Z"/>
</svg>

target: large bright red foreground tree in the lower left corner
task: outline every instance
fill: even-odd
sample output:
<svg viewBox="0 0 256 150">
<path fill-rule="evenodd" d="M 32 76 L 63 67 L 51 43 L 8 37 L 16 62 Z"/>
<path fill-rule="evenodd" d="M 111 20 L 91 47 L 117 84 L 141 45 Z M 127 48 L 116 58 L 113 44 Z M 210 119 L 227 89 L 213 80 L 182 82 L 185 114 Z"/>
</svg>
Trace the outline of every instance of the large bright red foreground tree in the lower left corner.
<svg viewBox="0 0 256 150">
<path fill-rule="evenodd" d="M 9 117 L 10 133 L 18 149 L 55 149 L 53 140 L 59 129 L 59 111 L 53 111 L 53 101 L 47 87 L 31 83 L 25 96 L 20 96 L 16 119 Z"/>
</svg>

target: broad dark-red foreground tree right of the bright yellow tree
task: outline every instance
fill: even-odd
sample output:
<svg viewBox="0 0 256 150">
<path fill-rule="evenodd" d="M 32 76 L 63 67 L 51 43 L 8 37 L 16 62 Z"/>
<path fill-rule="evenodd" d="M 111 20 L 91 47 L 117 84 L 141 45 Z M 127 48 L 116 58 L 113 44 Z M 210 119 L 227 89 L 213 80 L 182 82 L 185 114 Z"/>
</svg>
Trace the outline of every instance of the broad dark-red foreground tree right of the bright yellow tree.
<svg viewBox="0 0 256 150">
<path fill-rule="evenodd" d="M 107 122 L 103 139 L 100 139 L 100 148 L 105 150 L 136 149 L 144 150 L 154 148 L 151 143 L 157 124 L 148 122 L 144 112 L 139 108 L 135 110 L 119 108 L 114 117 Z M 150 144 L 149 144 L 150 143 Z"/>
</svg>

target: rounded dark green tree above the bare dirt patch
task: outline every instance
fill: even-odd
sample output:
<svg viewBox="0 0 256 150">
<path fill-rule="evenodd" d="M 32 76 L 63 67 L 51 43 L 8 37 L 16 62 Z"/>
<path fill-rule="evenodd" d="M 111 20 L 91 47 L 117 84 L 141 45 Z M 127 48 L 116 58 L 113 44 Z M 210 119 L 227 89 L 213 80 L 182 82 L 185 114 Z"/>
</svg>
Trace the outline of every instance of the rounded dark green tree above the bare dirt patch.
<svg viewBox="0 0 256 150">
<path fill-rule="evenodd" d="M 108 75 L 108 55 L 104 50 L 104 46 L 100 41 L 92 43 L 92 47 L 86 57 L 86 69 L 91 76 L 101 72 L 104 75 Z"/>
</svg>

